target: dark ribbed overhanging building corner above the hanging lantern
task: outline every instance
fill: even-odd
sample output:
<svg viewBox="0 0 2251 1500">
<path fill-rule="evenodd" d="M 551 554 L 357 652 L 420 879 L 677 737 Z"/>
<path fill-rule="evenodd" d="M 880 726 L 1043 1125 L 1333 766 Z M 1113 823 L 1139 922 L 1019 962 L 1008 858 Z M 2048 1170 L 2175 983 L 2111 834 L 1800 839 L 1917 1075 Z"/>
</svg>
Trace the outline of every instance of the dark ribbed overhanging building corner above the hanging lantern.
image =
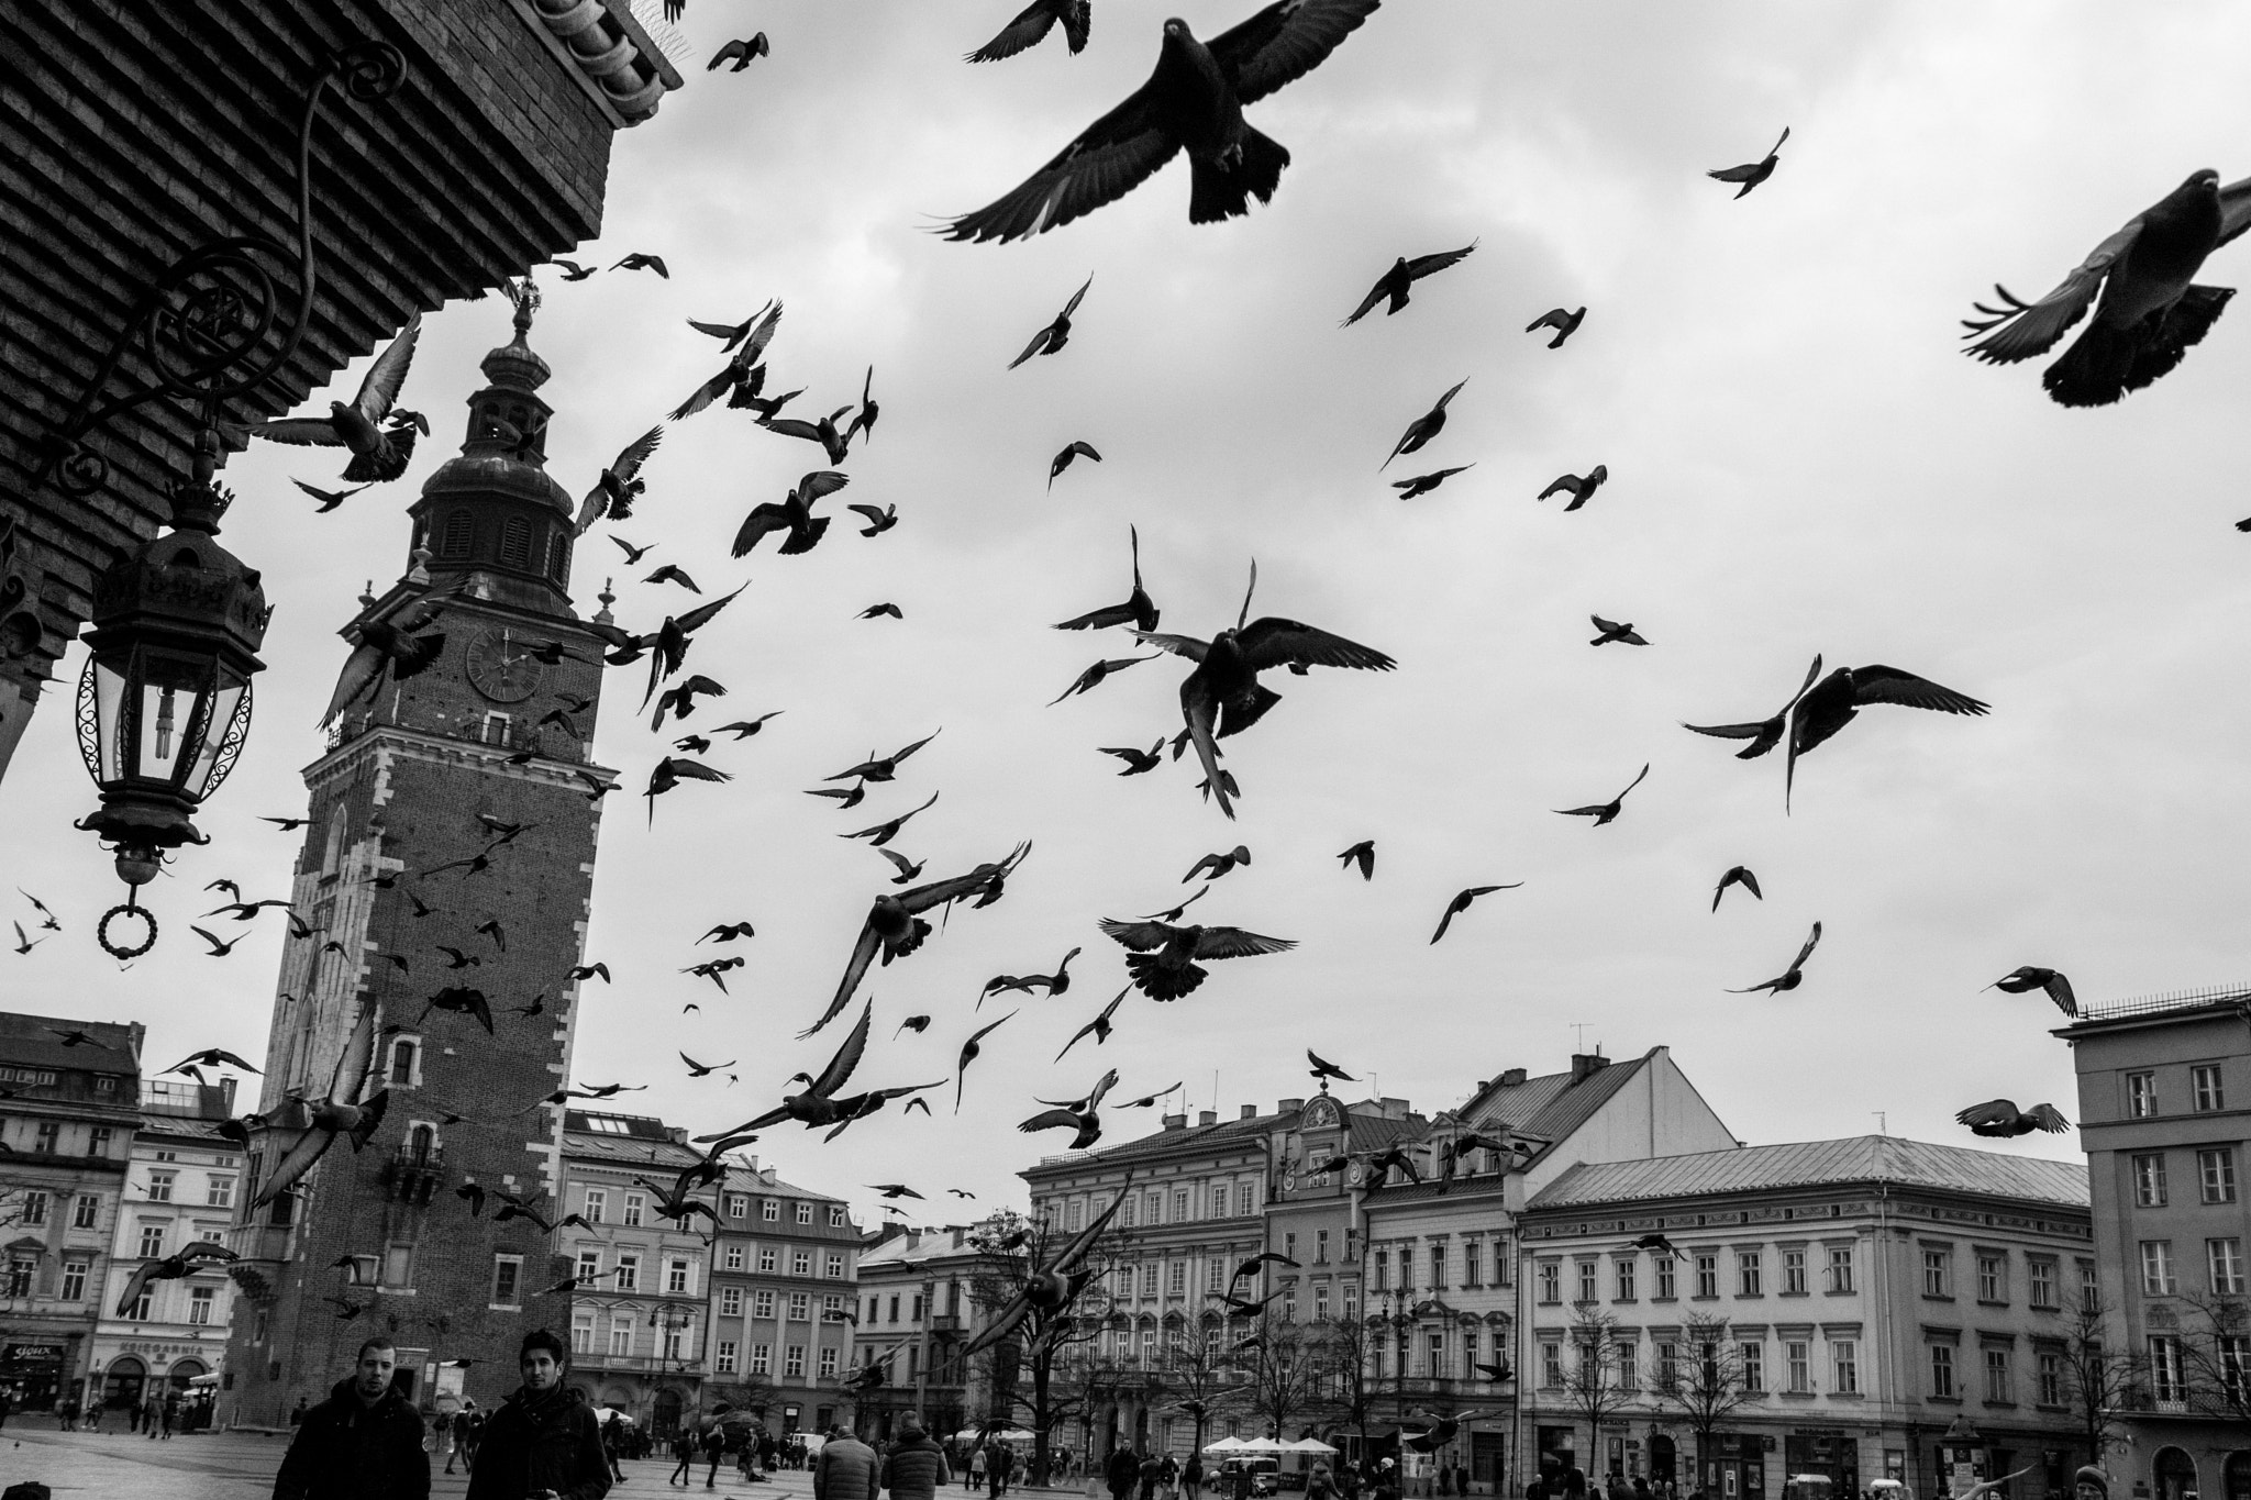
<svg viewBox="0 0 2251 1500">
<path fill-rule="evenodd" d="M 16 317 L 0 369 L 0 776 L 88 618 L 95 578 L 158 533 L 171 515 L 167 484 L 187 477 L 196 452 L 200 409 L 187 398 L 72 425 L 153 382 L 128 326 L 140 297 L 182 252 L 234 236 L 275 245 L 257 259 L 272 277 L 277 331 L 257 349 L 279 355 L 299 292 L 311 304 L 295 355 L 223 412 L 252 423 L 302 403 L 416 308 L 597 236 L 612 135 L 680 85 L 637 9 L 0 0 L 14 43 L 0 301 Z M 299 288 L 297 128 L 324 63 L 356 45 L 356 88 L 331 76 L 311 133 L 315 286 Z M 376 79 L 394 79 L 389 92 L 365 90 Z M 221 286 L 257 301 L 239 270 L 187 277 L 191 292 Z M 117 373 L 92 389 L 115 346 Z M 261 562 L 257 546 L 243 551 Z M 68 697 L 63 713 L 68 731 Z"/>
</svg>

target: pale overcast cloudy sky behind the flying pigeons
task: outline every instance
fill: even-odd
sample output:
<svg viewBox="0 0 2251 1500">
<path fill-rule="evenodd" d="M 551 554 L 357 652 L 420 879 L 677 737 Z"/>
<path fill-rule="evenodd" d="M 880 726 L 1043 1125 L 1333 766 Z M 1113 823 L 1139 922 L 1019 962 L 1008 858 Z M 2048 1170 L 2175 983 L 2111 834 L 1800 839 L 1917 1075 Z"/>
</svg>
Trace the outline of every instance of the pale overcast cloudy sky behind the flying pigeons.
<svg viewBox="0 0 2251 1500">
<path fill-rule="evenodd" d="M 1146 79 L 1164 11 L 1096 0 L 1094 40 L 1060 36 L 1006 63 L 961 54 L 999 4 L 743 4 L 693 0 L 689 85 L 617 137 L 606 234 L 576 256 L 662 254 L 671 281 L 542 274 L 533 346 L 554 364 L 549 470 L 581 493 L 626 441 L 720 364 L 687 317 L 788 315 L 768 358 L 797 412 L 858 398 L 876 367 L 882 418 L 844 466 L 822 546 L 727 558 L 743 513 L 824 468 L 810 443 L 714 409 L 675 427 L 648 497 L 617 526 L 655 542 L 624 569 L 588 537 L 574 589 L 606 576 L 651 627 L 693 605 L 644 585 L 680 562 L 711 596 L 750 589 L 691 666 L 729 686 L 689 726 L 783 715 L 725 744 L 725 787 L 633 796 L 664 753 L 633 713 L 642 668 L 608 679 L 597 758 L 608 801 L 579 1082 L 651 1084 L 633 1111 L 709 1131 L 826 1061 L 835 1032 L 792 1041 L 826 1005 L 867 902 L 891 868 L 835 834 L 943 792 L 896 848 L 952 875 L 1035 843 L 1002 904 L 957 911 L 925 949 L 876 969 L 869 1086 L 950 1077 L 979 985 L 1047 972 L 1085 947 L 1076 985 L 1020 1010 L 934 1124 L 889 1113 L 822 1147 L 795 1127 L 761 1156 L 853 1196 L 905 1181 L 984 1203 L 1065 1138 L 1015 1133 L 1031 1097 L 1119 1066 L 1121 1097 L 1186 1084 L 1186 1106 L 1272 1106 L 1308 1093 L 1312 1046 L 1423 1111 L 1501 1068 L 1670 1046 L 1749 1142 L 1877 1127 L 1974 1145 L 1970 1102 L 2053 1100 L 2078 1118 L 2071 1055 L 2039 994 L 1981 985 L 2015 965 L 2071 974 L 2084 1001 L 2244 978 L 2242 848 L 2251 738 L 2251 515 L 2242 412 L 2251 310 L 2237 306 L 2156 387 L 2066 412 L 2039 364 L 1958 353 L 1956 319 L 1994 281 L 2033 297 L 2199 166 L 2251 173 L 2251 92 L 2233 58 L 2251 13 L 2228 4 L 1490 4 L 1393 0 L 1303 81 L 1252 108 L 1294 162 L 1274 202 L 1186 223 L 1173 164 L 1121 202 L 1022 245 L 954 245 L 932 216 L 979 207 Z M 1243 0 L 1175 0 L 1211 36 Z M 743 74 L 700 61 L 763 27 Z M 1760 157 L 1751 196 L 1704 178 Z M 1398 254 L 1477 241 L 1398 317 L 1337 322 Z M 2242 243 L 2204 279 L 2235 283 Z M 1071 344 L 1008 360 L 1092 272 Z M 1560 351 L 1524 324 L 1589 308 Z M 7 783 L 0 868 L 63 918 L 27 958 L 0 954 L 16 1010 L 144 1021 L 149 1061 L 196 1046 L 259 1059 L 281 929 L 232 958 L 187 931 L 227 875 L 284 895 L 295 837 L 261 814 L 304 807 L 299 769 L 344 657 L 335 630 L 362 580 L 405 567 L 405 506 L 457 450 L 477 360 L 506 340 L 502 299 L 428 319 L 405 405 L 432 439 L 401 484 L 311 515 L 290 475 L 333 481 L 306 450 L 263 448 L 225 479 L 225 540 L 266 569 L 275 623 L 257 724 L 232 783 L 153 893 L 162 945 L 119 972 L 92 942 L 117 900 L 95 794 L 70 733 L 81 654 L 34 720 Z M 362 364 L 338 382 L 356 389 Z M 1456 380 L 1452 423 L 1378 475 L 1400 430 Z M 317 403 L 315 403 L 317 405 Z M 1103 452 L 1053 493 L 1049 457 Z M 1416 501 L 1387 479 L 1472 463 Z M 1587 508 L 1535 504 L 1555 475 L 1609 466 Z M 862 540 L 844 501 L 896 504 Z M 1198 801 L 1193 758 L 1116 778 L 1103 744 L 1180 726 L 1186 663 L 1159 659 L 1047 706 L 1123 632 L 1047 630 L 1123 598 L 1128 524 L 1164 630 L 1283 614 L 1398 659 L 1272 686 L 1283 702 L 1227 744 L 1240 821 Z M 894 600 L 905 621 L 858 621 Z M 1648 648 L 1587 645 L 1589 612 Z M 1679 724 L 1763 717 L 1821 652 L 1891 663 L 1992 704 L 1983 720 L 1873 708 L 1799 767 Z M 806 787 L 943 726 L 853 812 Z M 1650 778 L 1607 828 L 1555 807 Z M 1375 839 L 1373 884 L 1337 850 Z M 1173 904 L 1204 852 L 1254 864 L 1193 913 L 1297 938 L 1294 954 L 1213 965 L 1193 996 L 1132 996 L 1103 1050 L 1049 1059 L 1123 985 L 1094 922 Z M 1751 866 L 1765 902 L 1711 888 Z M 1470 884 L 1479 902 L 1429 931 Z M 0 893 L 16 902 L 14 891 Z M 27 913 L 27 906 L 18 909 Z M 693 938 L 750 920 L 732 994 L 680 974 Z M 1826 940 L 1794 994 L 1731 996 L 1783 972 L 1808 927 Z M 700 1012 L 680 1007 L 698 1001 Z M 1020 1003 L 1022 1001 L 1022 1003 Z M 891 1041 L 898 1019 L 936 1016 Z M 842 1028 L 837 1028 L 842 1030 Z M 675 1050 L 738 1059 L 689 1082 Z M 1346 1088 L 1346 1093 L 1353 1093 Z M 1155 1111 L 1112 1113 L 1110 1140 Z M 2075 1138 L 2028 1147 L 2069 1156 Z M 2001 1147 L 2012 1149 L 2012 1147 Z"/>
</svg>

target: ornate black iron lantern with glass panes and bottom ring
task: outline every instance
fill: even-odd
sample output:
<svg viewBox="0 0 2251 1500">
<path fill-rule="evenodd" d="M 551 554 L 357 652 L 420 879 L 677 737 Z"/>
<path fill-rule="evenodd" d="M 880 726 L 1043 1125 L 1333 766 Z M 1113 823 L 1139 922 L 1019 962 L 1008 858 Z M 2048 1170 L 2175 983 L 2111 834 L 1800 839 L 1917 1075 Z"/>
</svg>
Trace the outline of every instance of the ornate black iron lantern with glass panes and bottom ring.
<svg viewBox="0 0 2251 1500">
<path fill-rule="evenodd" d="M 216 434 L 205 436 L 216 443 Z M 209 479 L 176 484 L 171 533 L 95 580 L 79 756 L 101 787 L 101 807 L 79 828 L 115 848 L 117 877 L 131 886 L 99 929 L 117 958 L 155 945 L 140 886 L 155 879 L 167 850 L 207 841 L 189 814 L 227 778 L 250 733 L 250 675 L 266 668 L 257 648 L 272 609 L 257 569 L 216 540 L 232 501 Z M 140 945 L 110 940 L 119 913 L 146 922 Z"/>
</svg>

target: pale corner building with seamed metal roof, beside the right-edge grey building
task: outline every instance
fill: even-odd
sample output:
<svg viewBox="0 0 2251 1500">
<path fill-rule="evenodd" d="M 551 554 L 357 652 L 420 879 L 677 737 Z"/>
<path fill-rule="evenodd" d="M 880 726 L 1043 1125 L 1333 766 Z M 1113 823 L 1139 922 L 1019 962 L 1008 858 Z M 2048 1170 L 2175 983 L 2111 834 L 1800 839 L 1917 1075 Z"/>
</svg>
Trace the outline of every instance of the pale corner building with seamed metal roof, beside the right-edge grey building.
<svg viewBox="0 0 2251 1500">
<path fill-rule="evenodd" d="M 1857 1136 L 1569 1167 L 1517 1217 L 1524 1478 L 1934 1496 L 1952 1428 L 1979 1478 L 2030 1469 L 2001 1500 L 2071 1493 L 2091 1262 L 2075 1163 Z"/>
</svg>

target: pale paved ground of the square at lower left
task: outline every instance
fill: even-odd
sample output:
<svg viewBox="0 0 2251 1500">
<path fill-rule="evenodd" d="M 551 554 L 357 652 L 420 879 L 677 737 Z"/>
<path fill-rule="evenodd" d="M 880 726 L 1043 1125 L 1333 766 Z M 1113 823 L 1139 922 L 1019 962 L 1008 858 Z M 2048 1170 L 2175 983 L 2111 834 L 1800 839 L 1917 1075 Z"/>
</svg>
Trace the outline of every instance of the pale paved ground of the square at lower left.
<svg viewBox="0 0 2251 1500">
<path fill-rule="evenodd" d="M 135 1433 L 56 1433 L 0 1428 L 0 1489 L 18 1480 L 38 1480 L 61 1496 L 95 1496 L 99 1500 L 270 1500 L 275 1471 L 281 1466 L 286 1437 L 252 1433 L 196 1433 L 171 1442 L 149 1442 Z M 468 1475 L 455 1469 L 446 1478 L 443 1462 L 432 1464 L 432 1500 L 459 1500 Z M 626 1482 L 612 1484 L 612 1500 L 666 1493 L 671 1460 L 626 1460 Z M 702 1491 L 705 1464 L 696 1466 L 696 1491 Z M 673 1487 L 671 1493 L 687 1493 Z M 745 1484 L 734 1469 L 720 1464 L 716 1491 L 759 1496 L 761 1500 L 810 1500 L 813 1478 L 781 1471 L 759 1484 Z M 948 1491 L 959 1496 L 961 1491 Z M 1083 1491 L 1013 1489 L 1011 1500 L 1085 1500 Z M 979 1500 L 984 1491 L 977 1491 Z"/>
</svg>

